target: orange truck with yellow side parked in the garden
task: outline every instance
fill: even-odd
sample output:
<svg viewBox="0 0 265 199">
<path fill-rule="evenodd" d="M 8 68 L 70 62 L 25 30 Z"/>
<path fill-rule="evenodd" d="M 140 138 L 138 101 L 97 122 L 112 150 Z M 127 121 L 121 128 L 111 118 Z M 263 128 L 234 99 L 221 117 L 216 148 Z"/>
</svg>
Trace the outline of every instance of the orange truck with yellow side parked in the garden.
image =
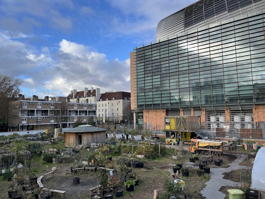
<svg viewBox="0 0 265 199">
<path fill-rule="evenodd" d="M 201 154 L 222 154 L 223 141 L 222 140 L 207 140 L 207 139 L 191 139 L 191 146 L 189 148 L 191 153 Z"/>
</svg>

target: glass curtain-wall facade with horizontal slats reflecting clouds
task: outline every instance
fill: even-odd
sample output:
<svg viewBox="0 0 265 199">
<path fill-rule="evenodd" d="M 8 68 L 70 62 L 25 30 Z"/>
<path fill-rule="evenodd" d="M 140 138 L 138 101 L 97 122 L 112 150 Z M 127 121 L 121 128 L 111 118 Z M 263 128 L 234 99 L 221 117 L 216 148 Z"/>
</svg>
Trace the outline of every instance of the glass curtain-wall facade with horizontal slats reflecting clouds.
<svg viewBox="0 0 265 199">
<path fill-rule="evenodd" d="M 137 106 L 265 102 L 265 14 L 136 50 Z"/>
</svg>

